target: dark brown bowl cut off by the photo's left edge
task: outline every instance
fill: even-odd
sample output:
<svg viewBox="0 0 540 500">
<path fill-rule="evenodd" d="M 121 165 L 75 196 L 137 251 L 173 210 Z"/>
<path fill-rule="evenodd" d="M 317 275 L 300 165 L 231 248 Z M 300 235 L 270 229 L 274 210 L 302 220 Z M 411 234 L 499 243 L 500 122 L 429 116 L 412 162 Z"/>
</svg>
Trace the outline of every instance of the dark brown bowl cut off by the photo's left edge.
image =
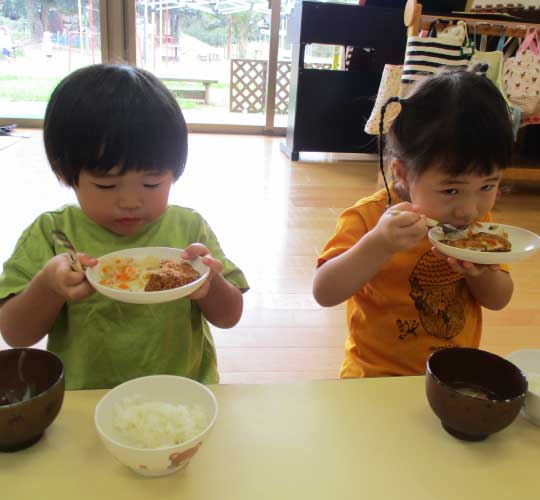
<svg viewBox="0 0 540 500">
<path fill-rule="evenodd" d="M 22 450 L 39 441 L 63 400 L 64 365 L 52 352 L 0 351 L 0 451 Z"/>
</svg>

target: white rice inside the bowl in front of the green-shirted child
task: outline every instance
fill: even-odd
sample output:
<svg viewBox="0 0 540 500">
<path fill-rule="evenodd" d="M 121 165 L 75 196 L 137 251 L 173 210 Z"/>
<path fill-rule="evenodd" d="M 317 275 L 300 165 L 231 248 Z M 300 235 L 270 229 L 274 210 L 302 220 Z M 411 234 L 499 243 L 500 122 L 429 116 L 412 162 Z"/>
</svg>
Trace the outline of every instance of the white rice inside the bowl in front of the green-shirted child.
<svg viewBox="0 0 540 500">
<path fill-rule="evenodd" d="M 113 416 L 113 426 L 124 444 L 147 449 L 189 441 L 208 424 L 208 416 L 198 405 L 143 401 L 138 395 L 121 400 Z"/>
</svg>

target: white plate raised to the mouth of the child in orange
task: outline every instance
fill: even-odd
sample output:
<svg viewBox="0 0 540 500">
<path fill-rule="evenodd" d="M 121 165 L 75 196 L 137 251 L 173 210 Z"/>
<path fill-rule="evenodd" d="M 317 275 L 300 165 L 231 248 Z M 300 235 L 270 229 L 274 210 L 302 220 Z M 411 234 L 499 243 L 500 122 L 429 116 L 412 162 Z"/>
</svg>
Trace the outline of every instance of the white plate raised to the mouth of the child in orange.
<svg viewBox="0 0 540 500">
<path fill-rule="evenodd" d="M 496 227 L 497 229 L 491 229 Z M 540 249 L 540 236 L 521 229 L 520 227 L 508 226 L 506 224 L 496 224 L 493 222 L 482 222 L 475 229 L 475 232 L 486 232 L 499 234 L 503 230 L 512 243 L 511 252 L 479 252 L 475 250 L 465 250 L 441 243 L 440 240 L 448 239 L 443 233 L 442 228 L 434 227 L 428 233 L 431 243 L 442 253 L 458 260 L 474 262 L 475 264 L 504 264 L 506 262 L 515 262 L 517 260 L 530 257 L 534 252 Z"/>
</svg>

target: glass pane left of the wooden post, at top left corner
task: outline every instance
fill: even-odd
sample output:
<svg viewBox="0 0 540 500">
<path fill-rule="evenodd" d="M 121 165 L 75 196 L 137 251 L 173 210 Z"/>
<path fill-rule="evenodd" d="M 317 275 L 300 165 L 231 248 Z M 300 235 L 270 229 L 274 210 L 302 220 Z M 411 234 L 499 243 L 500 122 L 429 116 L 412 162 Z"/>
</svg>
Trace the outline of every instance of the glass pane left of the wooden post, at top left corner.
<svg viewBox="0 0 540 500">
<path fill-rule="evenodd" d="M 0 118 L 42 120 L 56 84 L 101 62 L 99 0 L 0 2 Z"/>
</svg>

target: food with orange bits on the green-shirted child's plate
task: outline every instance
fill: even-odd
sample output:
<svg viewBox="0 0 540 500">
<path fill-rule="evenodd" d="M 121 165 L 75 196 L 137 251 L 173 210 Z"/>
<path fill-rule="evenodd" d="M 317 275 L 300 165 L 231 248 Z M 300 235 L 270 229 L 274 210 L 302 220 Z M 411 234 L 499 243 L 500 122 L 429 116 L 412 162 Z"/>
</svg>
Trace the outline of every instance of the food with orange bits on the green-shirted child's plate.
<svg viewBox="0 0 540 500">
<path fill-rule="evenodd" d="M 101 266 L 99 283 L 129 292 L 156 292 L 187 285 L 200 276 L 187 262 L 157 257 L 116 257 Z"/>
</svg>

